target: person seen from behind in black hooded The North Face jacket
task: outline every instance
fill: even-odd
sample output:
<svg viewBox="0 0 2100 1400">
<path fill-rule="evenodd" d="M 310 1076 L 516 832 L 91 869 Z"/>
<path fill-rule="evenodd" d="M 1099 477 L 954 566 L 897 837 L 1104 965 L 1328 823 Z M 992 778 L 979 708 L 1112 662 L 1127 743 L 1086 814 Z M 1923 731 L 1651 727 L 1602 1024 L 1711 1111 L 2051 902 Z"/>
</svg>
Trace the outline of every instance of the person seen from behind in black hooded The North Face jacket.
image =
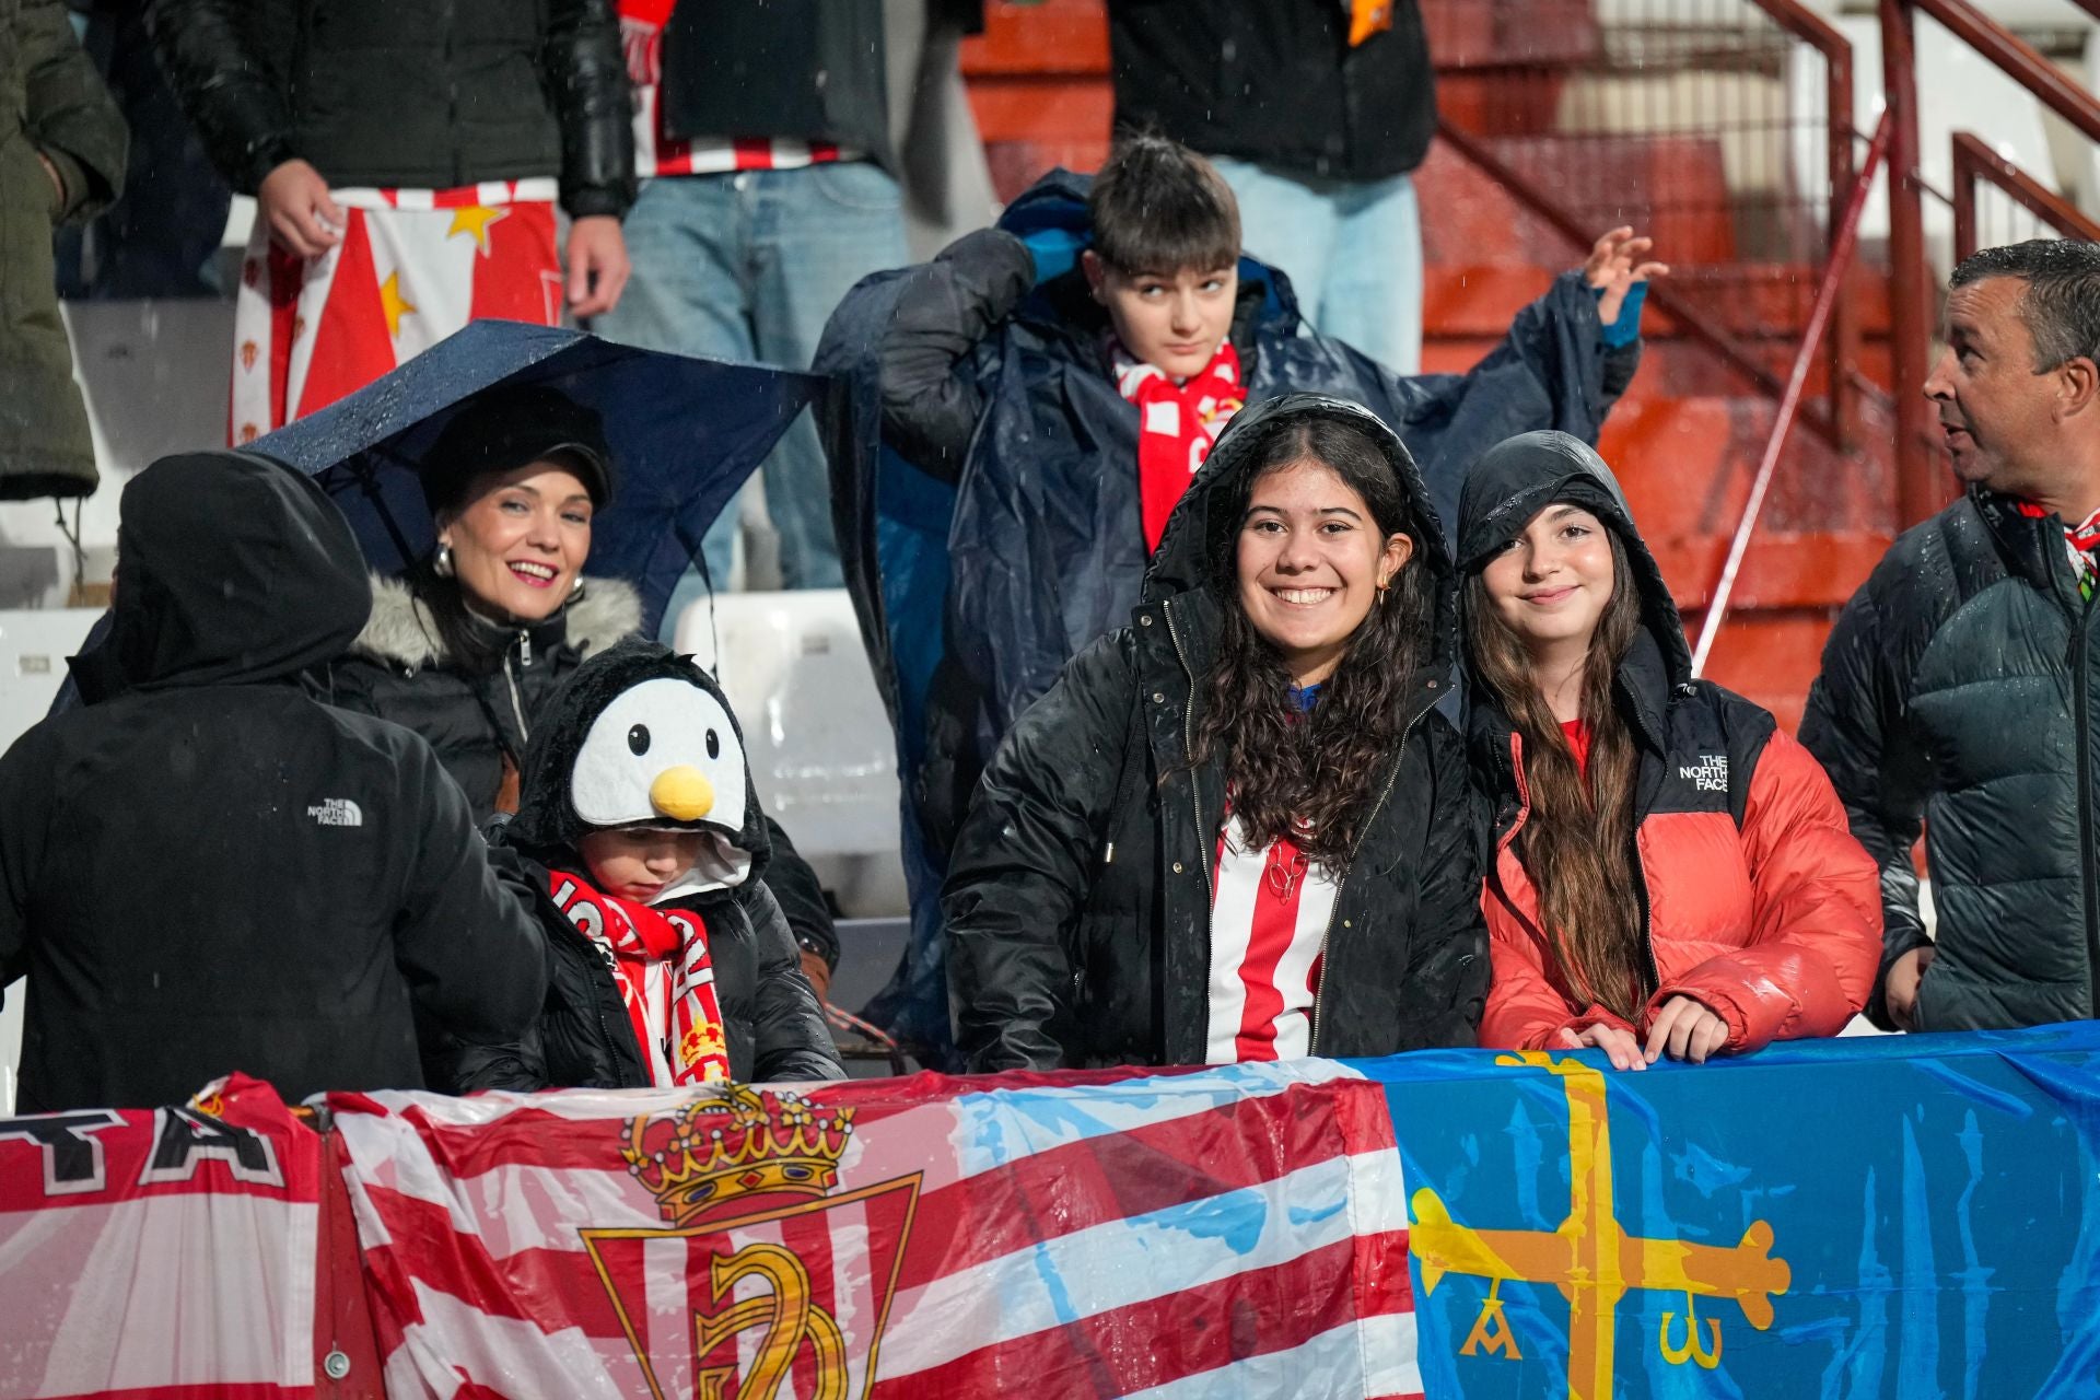
<svg viewBox="0 0 2100 1400">
<path fill-rule="evenodd" d="M 178 1104 L 229 1070 L 418 1089 L 416 1018 L 504 1041 L 546 945 L 430 745 L 298 674 L 372 609 L 319 487 L 248 453 L 124 487 L 86 707 L 0 758 L 0 982 L 27 1112 Z"/>
</svg>

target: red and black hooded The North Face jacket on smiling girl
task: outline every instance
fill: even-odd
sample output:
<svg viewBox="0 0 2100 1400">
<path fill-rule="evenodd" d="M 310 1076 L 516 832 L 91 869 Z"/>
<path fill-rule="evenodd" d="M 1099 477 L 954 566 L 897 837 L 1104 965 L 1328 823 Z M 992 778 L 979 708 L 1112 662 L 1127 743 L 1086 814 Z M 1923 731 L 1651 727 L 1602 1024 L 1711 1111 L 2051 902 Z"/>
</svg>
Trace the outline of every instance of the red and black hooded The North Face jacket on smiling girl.
<svg viewBox="0 0 2100 1400">
<path fill-rule="evenodd" d="M 1640 749 L 1638 888 L 1628 898 L 1640 900 L 1655 993 L 1630 1026 L 1581 1001 L 1562 974 L 1520 856 L 1522 737 L 1476 684 L 1470 747 L 1491 810 L 1483 907 L 1495 968 L 1480 1043 L 1544 1049 L 1564 1026 L 1592 1024 L 1644 1035 L 1678 995 L 1728 1024 L 1730 1052 L 1835 1035 L 1865 1005 L 1880 957 L 1873 861 L 1848 833 L 1823 768 L 1770 712 L 1693 680 L 1676 604 L 1604 462 L 1554 434 L 1491 451 L 1466 481 L 1462 558 L 1485 560 L 1562 500 L 1619 533 L 1642 598 L 1644 625 L 1619 665 L 1615 699 Z"/>
</svg>

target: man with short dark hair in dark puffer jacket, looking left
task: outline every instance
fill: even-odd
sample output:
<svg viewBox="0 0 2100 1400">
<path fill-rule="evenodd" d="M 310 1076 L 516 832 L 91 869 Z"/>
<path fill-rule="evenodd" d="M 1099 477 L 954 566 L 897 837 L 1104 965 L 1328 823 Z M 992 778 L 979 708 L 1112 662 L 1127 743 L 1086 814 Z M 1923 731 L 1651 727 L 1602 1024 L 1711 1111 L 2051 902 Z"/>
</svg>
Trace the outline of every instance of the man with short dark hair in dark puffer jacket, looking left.
<svg viewBox="0 0 2100 1400">
<path fill-rule="evenodd" d="M 1852 596 L 1802 741 L 1882 867 L 1884 1026 L 2100 1014 L 2100 243 L 1964 260 L 1926 380 L 1961 500 Z M 1917 909 L 1919 823 L 1936 938 Z"/>
</svg>

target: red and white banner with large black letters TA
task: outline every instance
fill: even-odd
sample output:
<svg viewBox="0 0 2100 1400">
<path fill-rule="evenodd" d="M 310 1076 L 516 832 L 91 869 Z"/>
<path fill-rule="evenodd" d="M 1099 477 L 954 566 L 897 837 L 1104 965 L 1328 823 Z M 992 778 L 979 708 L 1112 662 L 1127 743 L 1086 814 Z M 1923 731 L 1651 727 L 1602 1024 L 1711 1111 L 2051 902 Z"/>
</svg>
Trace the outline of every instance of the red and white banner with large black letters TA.
<svg viewBox="0 0 2100 1400">
<path fill-rule="evenodd" d="M 244 1075 L 189 1108 L 0 1119 L 0 1396 L 313 1396 L 319 1161 Z"/>
</svg>

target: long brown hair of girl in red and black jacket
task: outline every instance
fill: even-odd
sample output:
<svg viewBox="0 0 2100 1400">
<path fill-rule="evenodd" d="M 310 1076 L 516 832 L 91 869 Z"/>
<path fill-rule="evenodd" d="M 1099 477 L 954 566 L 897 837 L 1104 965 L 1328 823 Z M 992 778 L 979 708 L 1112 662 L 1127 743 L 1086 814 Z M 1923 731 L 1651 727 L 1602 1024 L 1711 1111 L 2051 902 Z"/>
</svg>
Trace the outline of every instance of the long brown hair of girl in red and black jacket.
<svg viewBox="0 0 2100 1400">
<path fill-rule="evenodd" d="M 1539 892 L 1539 926 L 1567 984 L 1586 1001 L 1638 1020 L 1651 989 L 1634 890 L 1634 777 L 1640 756 L 1613 699 L 1613 678 L 1640 630 L 1640 586 L 1619 531 L 1611 539 L 1611 600 L 1590 638 L 1581 718 L 1590 724 L 1588 779 L 1567 735 L 1539 695 L 1531 653 L 1487 596 L 1487 579 L 1466 579 L 1466 644 L 1472 667 L 1522 739 L 1522 783 L 1531 814 L 1516 854 Z"/>
</svg>

